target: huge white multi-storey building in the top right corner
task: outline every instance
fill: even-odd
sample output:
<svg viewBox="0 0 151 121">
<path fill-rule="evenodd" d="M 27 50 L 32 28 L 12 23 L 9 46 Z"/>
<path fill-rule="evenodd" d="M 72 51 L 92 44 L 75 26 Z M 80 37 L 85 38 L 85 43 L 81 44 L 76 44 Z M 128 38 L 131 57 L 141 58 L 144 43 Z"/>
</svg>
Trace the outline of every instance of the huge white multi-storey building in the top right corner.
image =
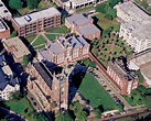
<svg viewBox="0 0 151 121">
<path fill-rule="evenodd" d="M 139 53 L 151 47 L 151 16 L 133 2 L 125 2 L 115 7 L 120 21 L 119 36 Z"/>
</svg>

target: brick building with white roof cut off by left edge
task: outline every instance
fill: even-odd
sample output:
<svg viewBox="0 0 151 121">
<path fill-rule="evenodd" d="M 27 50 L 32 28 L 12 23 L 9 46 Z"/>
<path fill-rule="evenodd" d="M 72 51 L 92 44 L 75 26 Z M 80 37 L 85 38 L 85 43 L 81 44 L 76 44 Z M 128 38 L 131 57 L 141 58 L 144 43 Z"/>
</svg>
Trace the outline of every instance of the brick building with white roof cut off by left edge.
<svg viewBox="0 0 151 121">
<path fill-rule="evenodd" d="M 10 28 L 7 25 L 3 19 L 0 18 L 0 40 L 9 38 L 9 37 L 10 37 Z"/>
</svg>

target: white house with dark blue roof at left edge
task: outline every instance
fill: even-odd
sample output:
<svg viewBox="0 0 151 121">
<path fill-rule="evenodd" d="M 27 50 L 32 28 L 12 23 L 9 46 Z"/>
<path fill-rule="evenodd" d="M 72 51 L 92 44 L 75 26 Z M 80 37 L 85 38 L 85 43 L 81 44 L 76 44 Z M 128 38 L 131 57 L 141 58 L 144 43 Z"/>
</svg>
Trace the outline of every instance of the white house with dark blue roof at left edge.
<svg viewBox="0 0 151 121">
<path fill-rule="evenodd" d="M 9 100 L 14 91 L 19 91 L 19 80 L 13 78 L 13 73 L 8 65 L 0 68 L 0 101 Z"/>
</svg>

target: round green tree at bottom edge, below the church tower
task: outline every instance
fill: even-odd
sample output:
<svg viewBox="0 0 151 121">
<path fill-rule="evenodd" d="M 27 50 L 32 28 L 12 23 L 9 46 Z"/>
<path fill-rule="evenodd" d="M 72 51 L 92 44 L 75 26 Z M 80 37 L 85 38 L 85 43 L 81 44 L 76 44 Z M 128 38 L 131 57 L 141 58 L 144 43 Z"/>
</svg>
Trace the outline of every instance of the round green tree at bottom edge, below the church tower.
<svg viewBox="0 0 151 121">
<path fill-rule="evenodd" d="M 60 113 L 60 116 L 56 117 L 55 121 L 73 121 L 73 120 L 68 113 Z"/>
</svg>

